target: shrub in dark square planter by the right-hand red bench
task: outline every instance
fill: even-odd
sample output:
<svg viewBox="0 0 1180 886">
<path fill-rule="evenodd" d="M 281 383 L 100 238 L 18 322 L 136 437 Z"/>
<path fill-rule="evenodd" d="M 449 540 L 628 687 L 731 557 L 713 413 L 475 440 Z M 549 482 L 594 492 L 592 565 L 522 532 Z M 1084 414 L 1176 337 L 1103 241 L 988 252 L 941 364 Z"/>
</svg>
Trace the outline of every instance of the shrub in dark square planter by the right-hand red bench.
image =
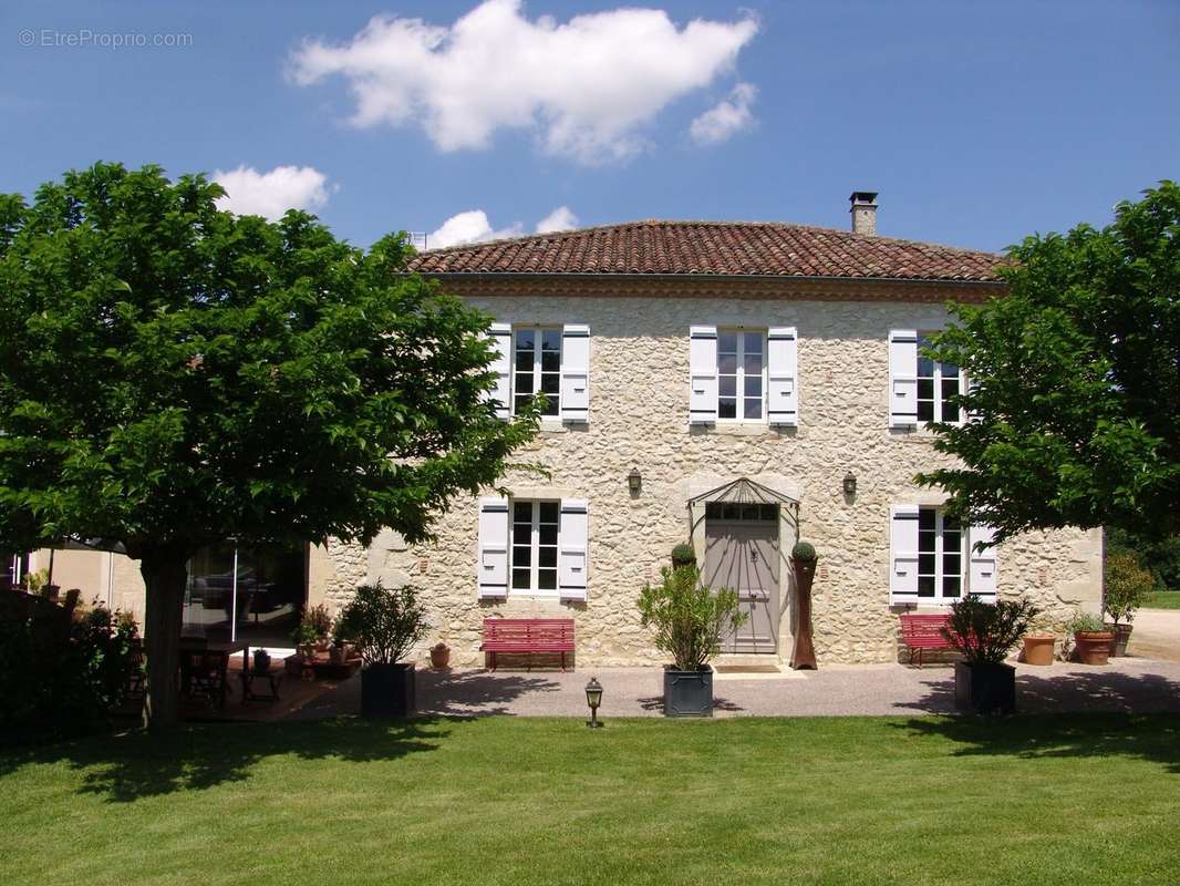
<svg viewBox="0 0 1180 886">
<path fill-rule="evenodd" d="M 955 663 L 955 704 L 959 710 L 1016 710 L 1016 669 L 1004 659 L 1036 614 L 1028 600 L 984 602 L 978 594 L 968 594 L 951 604 L 943 636 L 963 656 Z"/>
</svg>

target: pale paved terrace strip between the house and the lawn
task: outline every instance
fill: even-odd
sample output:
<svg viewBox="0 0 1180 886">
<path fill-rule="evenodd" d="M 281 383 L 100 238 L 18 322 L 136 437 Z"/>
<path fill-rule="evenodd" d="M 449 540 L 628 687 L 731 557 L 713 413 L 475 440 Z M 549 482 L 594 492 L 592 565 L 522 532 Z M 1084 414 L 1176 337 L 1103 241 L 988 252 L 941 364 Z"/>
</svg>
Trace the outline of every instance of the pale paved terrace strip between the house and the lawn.
<svg viewBox="0 0 1180 886">
<path fill-rule="evenodd" d="M 1180 663 L 1153 658 L 1112 659 L 1104 667 L 1057 662 L 1048 667 L 1017 664 L 1022 712 L 1180 712 Z M 586 715 L 583 691 L 590 677 L 603 684 L 601 715 L 662 716 L 657 669 L 581 669 L 418 672 L 418 709 L 424 716 Z M 786 675 L 719 675 L 719 717 L 949 714 L 955 710 L 950 665 L 832 665 Z M 282 718 L 315 719 L 360 711 L 360 679 L 339 684 Z"/>
</svg>

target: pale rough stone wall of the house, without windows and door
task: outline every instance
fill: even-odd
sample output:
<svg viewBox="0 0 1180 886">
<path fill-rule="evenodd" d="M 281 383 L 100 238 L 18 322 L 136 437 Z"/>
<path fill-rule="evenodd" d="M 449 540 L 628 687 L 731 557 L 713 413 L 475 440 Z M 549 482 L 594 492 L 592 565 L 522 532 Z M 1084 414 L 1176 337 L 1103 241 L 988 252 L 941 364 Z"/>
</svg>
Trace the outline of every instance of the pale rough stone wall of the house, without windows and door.
<svg viewBox="0 0 1180 886">
<path fill-rule="evenodd" d="M 669 284 L 675 286 L 676 284 Z M 504 292 L 496 280 L 489 292 Z M 483 663 L 484 617 L 572 617 L 579 665 L 655 665 L 663 660 L 640 626 L 635 600 L 643 582 L 668 562 L 673 545 L 689 536 L 688 500 L 739 477 L 749 477 L 799 501 L 799 534 L 820 553 L 814 587 L 814 641 L 820 664 L 896 660 L 899 610 L 889 604 L 890 507 L 938 504 L 940 496 L 912 477 L 948 463 L 924 430 L 894 430 L 887 422 L 891 328 L 933 330 L 946 323 L 940 293 L 929 285 L 897 287 L 892 298 L 808 298 L 776 284 L 756 297 L 691 298 L 627 294 L 596 280 L 563 294 L 479 294 L 460 291 L 498 321 L 535 326 L 588 324 L 590 421 L 546 423 L 519 462 L 543 464 L 549 477 L 523 471 L 504 481 L 512 495 L 589 500 L 589 586 L 584 602 L 477 597 L 477 521 L 473 500 L 454 502 L 438 526 L 438 542 L 407 547 L 386 533 L 368 549 L 329 545 L 312 552 L 309 602 L 337 608 L 361 580 L 421 587 L 430 605 L 428 644 L 446 641 L 452 663 Z M 693 284 L 686 284 L 693 286 Z M 455 287 L 448 287 L 455 288 Z M 525 291 L 525 287 L 522 287 Z M 935 298 L 933 295 L 938 297 Z M 972 293 L 972 295 L 976 295 Z M 977 297 L 977 295 L 976 295 Z M 795 326 L 798 328 L 798 428 L 690 426 L 689 339 L 693 324 Z M 628 474 L 642 475 L 632 494 Z M 858 491 L 846 496 L 847 473 Z M 789 552 L 794 539 L 785 538 Z M 699 541 L 699 540 L 697 540 Z M 1061 530 L 1012 540 L 998 552 L 1003 597 L 1028 595 L 1050 618 L 1101 600 L 1101 532 Z M 792 594 L 782 563 L 780 653 L 789 654 Z"/>
</svg>

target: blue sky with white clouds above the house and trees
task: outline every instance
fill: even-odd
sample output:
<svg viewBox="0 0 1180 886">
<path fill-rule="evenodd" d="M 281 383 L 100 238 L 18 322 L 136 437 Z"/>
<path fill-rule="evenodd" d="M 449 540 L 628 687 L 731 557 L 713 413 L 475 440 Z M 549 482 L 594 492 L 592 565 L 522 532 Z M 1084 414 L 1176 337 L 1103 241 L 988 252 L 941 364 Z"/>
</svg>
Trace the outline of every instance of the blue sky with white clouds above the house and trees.
<svg viewBox="0 0 1180 886">
<path fill-rule="evenodd" d="M 1180 176 L 1176 0 L 478 6 L 8 0 L 0 190 L 100 158 L 238 170 L 242 206 L 302 202 L 368 245 L 455 216 L 447 239 L 846 228 L 872 189 L 884 235 L 1001 249 Z M 189 45 L 96 45 L 126 34 Z"/>
</svg>

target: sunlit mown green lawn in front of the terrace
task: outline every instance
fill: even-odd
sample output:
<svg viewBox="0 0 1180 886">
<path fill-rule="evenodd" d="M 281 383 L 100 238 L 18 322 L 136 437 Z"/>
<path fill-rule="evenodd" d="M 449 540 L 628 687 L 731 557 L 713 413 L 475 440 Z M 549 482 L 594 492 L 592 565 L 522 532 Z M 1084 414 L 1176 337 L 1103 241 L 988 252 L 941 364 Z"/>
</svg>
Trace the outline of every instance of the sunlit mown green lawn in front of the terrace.
<svg viewBox="0 0 1180 886">
<path fill-rule="evenodd" d="M 1180 717 L 222 724 L 0 796 L 5 886 L 1175 884 Z"/>
</svg>

